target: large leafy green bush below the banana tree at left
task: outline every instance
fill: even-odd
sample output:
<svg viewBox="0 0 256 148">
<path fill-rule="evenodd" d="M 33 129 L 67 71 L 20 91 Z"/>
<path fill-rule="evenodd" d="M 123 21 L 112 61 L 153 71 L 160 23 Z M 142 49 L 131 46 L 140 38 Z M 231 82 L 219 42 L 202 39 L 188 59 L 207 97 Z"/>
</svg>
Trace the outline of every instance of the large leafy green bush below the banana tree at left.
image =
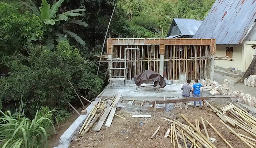
<svg viewBox="0 0 256 148">
<path fill-rule="evenodd" d="M 94 74 L 95 64 L 85 60 L 68 41 L 61 41 L 54 51 L 39 46 L 27 48 L 27 57 L 19 53 L 10 56 L 7 64 L 13 72 L 0 79 L 0 99 L 5 110 L 14 108 L 13 104 L 23 98 L 28 116 L 35 115 L 41 106 L 68 111 L 63 97 L 71 103 L 78 101 L 68 80 L 78 93 L 101 92 L 103 81 Z"/>
</svg>

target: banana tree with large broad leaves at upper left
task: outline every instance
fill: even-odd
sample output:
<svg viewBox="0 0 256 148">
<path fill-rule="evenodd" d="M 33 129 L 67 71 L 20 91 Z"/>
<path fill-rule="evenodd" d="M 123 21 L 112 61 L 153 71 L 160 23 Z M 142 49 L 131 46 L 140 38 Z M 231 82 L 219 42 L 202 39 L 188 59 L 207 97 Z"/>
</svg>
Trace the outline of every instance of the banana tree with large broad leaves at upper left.
<svg viewBox="0 0 256 148">
<path fill-rule="evenodd" d="M 74 24 L 82 25 L 83 27 L 87 27 L 88 26 L 87 23 L 81 20 L 70 18 L 70 17 L 82 15 L 79 12 L 83 12 L 85 11 L 85 9 L 74 9 L 71 11 L 58 14 L 57 12 L 61 6 L 61 3 L 63 3 L 63 1 L 64 0 L 59 0 L 57 2 L 54 2 L 52 7 L 50 8 L 50 4 L 48 4 L 46 0 L 42 0 L 41 7 L 39 7 L 39 9 L 35 7 L 35 5 L 31 0 L 30 0 L 30 4 L 25 3 L 23 1 L 20 1 L 20 2 L 25 6 L 29 7 L 35 13 L 35 15 L 37 15 L 47 26 L 48 37 L 46 39 L 46 43 L 49 49 L 54 48 L 54 43 L 58 43 L 61 40 L 67 40 L 66 35 L 73 37 L 80 45 L 82 45 L 82 47 L 85 47 L 86 43 L 76 33 L 72 31 L 64 30 L 64 29 L 59 29 L 59 28 L 64 28 L 64 27 L 59 27 L 62 22 L 74 23 Z M 31 37 L 31 40 L 34 40 L 34 41 L 38 40 L 35 34 L 33 34 L 33 36 Z"/>
</svg>

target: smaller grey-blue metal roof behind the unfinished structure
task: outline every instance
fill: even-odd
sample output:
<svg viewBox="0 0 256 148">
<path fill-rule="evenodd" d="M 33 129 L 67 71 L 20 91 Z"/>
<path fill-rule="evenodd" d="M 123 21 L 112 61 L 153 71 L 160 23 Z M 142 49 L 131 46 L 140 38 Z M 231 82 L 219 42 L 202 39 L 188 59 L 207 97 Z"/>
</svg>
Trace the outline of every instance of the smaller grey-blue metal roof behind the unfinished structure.
<svg viewBox="0 0 256 148">
<path fill-rule="evenodd" d="M 167 37 L 170 36 L 174 25 L 177 25 L 182 35 L 193 36 L 195 35 L 202 22 L 203 21 L 197 21 L 195 19 L 173 19 Z"/>
</svg>

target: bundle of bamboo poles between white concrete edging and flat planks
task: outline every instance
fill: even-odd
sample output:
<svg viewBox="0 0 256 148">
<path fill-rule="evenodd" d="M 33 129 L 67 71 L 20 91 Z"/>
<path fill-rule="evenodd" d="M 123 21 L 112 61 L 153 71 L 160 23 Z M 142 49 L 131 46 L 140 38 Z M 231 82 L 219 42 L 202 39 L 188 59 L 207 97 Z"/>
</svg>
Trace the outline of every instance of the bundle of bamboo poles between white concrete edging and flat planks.
<svg viewBox="0 0 256 148">
<path fill-rule="evenodd" d="M 99 100 L 97 106 L 94 105 L 93 109 L 91 109 L 91 112 L 87 116 L 86 120 L 84 121 L 82 127 L 80 128 L 79 134 L 84 135 L 86 132 L 89 131 L 91 127 L 93 127 L 93 124 L 99 119 L 100 116 L 105 112 L 105 108 L 107 106 L 111 106 L 114 103 L 114 100 L 116 99 L 116 95 L 111 97 L 108 97 L 103 100 Z M 111 100 L 111 101 L 109 101 Z M 108 101 L 111 102 L 111 104 L 108 104 Z"/>
</svg>

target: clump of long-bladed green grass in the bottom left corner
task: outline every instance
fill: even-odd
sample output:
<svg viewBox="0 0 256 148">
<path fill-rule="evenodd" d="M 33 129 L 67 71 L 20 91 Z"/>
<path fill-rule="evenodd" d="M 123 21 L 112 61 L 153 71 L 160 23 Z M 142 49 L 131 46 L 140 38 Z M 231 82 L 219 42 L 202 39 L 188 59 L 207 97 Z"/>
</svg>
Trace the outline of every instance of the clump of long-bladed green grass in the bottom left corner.
<svg viewBox="0 0 256 148">
<path fill-rule="evenodd" d="M 11 111 L 0 111 L 0 147 L 1 148 L 42 148 L 48 147 L 47 129 L 55 133 L 52 114 L 46 112 L 42 116 L 35 113 L 34 119 L 25 117 L 23 109 L 15 115 Z M 57 120 L 56 120 L 57 121 Z"/>
</svg>

